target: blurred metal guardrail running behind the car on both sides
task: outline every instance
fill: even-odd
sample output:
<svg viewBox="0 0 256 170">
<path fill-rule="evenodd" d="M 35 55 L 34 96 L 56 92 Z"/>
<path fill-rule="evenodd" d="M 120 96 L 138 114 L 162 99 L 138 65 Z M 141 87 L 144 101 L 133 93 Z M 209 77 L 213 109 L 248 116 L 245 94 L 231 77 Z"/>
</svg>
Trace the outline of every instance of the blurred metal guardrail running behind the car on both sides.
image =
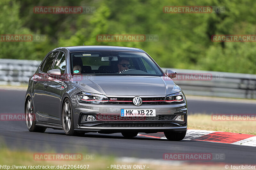
<svg viewBox="0 0 256 170">
<path fill-rule="evenodd" d="M 40 63 L 36 60 L 0 59 L 0 85 L 27 84 Z M 168 69 L 177 71 L 173 81 L 187 95 L 256 99 L 256 75 Z"/>
</svg>

